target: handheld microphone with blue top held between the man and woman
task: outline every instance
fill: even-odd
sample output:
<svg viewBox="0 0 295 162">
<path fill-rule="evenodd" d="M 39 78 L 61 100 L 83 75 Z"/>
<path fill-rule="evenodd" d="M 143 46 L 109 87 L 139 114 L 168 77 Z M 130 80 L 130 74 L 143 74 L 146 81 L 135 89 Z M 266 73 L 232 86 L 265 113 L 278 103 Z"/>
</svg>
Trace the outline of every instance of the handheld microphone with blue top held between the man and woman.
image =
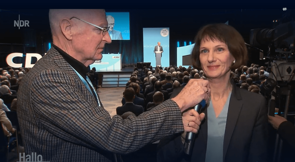
<svg viewBox="0 0 295 162">
<path fill-rule="evenodd" d="M 206 101 L 202 100 L 199 104 L 194 106 L 194 110 L 196 110 L 200 114 L 201 110 L 205 107 L 205 105 L 206 105 Z M 185 143 L 184 143 L 184 149 L 185 149 L 185 153 L 187 155 L 191 154 L 194 140 L 195 140 L 195 133 L 187 132 L 186 133 L 186 138 L 185 138 Z"/>
</svg>

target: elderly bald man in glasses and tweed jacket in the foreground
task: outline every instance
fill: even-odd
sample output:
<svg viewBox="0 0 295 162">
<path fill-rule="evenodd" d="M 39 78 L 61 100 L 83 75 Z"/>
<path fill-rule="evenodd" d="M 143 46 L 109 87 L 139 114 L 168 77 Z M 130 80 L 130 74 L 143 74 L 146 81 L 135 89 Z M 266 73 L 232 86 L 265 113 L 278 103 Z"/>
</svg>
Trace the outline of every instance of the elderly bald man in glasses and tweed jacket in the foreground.
<svg viewBox="0 0 295 162">
<path fill-rule="evenodd" d="M 86 76 L 112 42 L 105 11 L 51 9 L 49 20 L 53 47 L 19 89 L 17 114 L 26 155 L 50 162 L 110 162 L 116 161 L 115 153 L 136 151 L 164 136 L 197 132 L 204 113 L 189 110 L 189 127 L 181 112 L 208 101 L 207 81 L 189 82 L 180 95 L 139 117 L 111 118 Z"/>
</svg>

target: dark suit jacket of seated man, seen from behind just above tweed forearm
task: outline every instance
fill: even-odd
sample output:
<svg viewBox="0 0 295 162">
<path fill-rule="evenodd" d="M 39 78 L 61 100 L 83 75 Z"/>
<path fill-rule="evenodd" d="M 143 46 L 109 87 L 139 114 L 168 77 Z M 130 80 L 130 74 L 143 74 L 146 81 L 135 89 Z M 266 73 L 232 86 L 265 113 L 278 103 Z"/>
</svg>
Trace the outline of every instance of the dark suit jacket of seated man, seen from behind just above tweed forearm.
<svg viewBox="0 0 295 162">
<path fill-rule="evenodd" d="M 141 113 L 144 112 L 143 107 L 139 105 L 135 105 L 134 103 L 125 103 L 123 106 L 119 106 L 116 108 L 117 115 L 123 115 L 128 111 L 134 113 L 136 116 L 139 116 Z"/>
</svg>

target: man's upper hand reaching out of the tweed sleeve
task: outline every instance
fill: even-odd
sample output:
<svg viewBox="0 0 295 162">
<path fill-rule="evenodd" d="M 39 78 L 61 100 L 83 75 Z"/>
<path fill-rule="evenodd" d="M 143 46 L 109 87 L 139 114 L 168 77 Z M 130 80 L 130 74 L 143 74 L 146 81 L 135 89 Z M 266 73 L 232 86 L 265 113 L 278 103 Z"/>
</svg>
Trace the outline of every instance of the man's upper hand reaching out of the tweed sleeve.
<svg viewBox="0 0 295 162">
<path fill-rule="evenodd" d="M 172 98 L 172 100 L 178 104 L 180 111 L 183 112 L 190 107 L 196 106 L 203 99 L 208 103 L 210 93 L 211 90 L 208 80 L 190 79 L 181 92 Z"/>
</svg>

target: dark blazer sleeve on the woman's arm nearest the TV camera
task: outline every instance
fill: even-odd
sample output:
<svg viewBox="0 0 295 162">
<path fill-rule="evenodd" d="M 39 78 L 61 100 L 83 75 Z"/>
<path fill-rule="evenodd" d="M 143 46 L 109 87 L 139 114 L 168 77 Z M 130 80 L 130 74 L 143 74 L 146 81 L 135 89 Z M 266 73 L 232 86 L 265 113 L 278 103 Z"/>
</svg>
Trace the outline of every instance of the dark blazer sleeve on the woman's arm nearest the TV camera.
<svg viewBox="0 0 295 162">
<path fill-rule="evenodd" d="M 267 141 L 268 141 L 268 130 L 267 130 L 267 107 L 265 98 L 257 98 L 260 102 L 259 113 L 253 128 L 252 139 L 250 142 L 250 150 L 248 161 L 267 161 Z"/>
</svg>

